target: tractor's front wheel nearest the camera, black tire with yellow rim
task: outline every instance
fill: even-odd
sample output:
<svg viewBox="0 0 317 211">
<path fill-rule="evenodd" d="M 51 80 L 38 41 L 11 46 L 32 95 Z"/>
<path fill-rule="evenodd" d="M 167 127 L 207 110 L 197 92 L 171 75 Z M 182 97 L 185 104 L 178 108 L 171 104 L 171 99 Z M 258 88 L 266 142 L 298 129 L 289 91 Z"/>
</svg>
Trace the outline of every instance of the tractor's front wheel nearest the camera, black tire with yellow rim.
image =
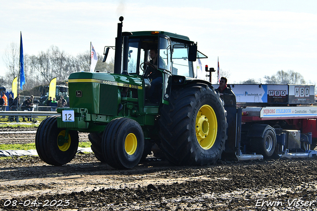
<svg viewBox="0 0 317 211">
<path fill-rule="evenodd" d="M 144 151 L 144 134 L 140 124 L 129 118 L 113 119 L 105 129 L 102 151 L 106 162 L 114 168 L 136 166 Z"/>
</svg>

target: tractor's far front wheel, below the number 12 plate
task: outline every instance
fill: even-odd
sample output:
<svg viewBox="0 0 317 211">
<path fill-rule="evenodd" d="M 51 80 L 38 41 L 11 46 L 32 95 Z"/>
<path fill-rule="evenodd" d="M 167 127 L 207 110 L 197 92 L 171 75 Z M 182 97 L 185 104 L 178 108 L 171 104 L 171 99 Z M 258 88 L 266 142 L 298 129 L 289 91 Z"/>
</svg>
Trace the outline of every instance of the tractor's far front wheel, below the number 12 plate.
<svg viewBox="0 0 317 211">
<path fill-rule="evenodd" d="M 78 131 L 69 131 L 68 142 L 60 143 L 64 136 L 65 130 L 57 128 L 57 116 L 50 116 L 42 121 L 36 132 L 35 146 L 44 162 L 64 165 L 75 157 L 79 143 Z"/>
</svg>

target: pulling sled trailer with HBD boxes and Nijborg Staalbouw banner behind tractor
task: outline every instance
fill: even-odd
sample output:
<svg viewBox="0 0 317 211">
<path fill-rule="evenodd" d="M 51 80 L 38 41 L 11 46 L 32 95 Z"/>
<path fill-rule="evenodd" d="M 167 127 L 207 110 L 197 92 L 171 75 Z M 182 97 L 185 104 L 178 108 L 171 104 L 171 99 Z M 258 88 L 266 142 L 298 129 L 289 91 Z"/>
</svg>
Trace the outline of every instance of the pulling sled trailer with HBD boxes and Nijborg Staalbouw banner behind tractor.
<svg viewBox="0 0 317 211">
<path fill-rule="evenodd" d="M 317 155 L 314 85 L 229 86 L 236 95 L 237 107 L 225 105 L 229 125 L 224 157 L 242 160 Z"/>
</svg>

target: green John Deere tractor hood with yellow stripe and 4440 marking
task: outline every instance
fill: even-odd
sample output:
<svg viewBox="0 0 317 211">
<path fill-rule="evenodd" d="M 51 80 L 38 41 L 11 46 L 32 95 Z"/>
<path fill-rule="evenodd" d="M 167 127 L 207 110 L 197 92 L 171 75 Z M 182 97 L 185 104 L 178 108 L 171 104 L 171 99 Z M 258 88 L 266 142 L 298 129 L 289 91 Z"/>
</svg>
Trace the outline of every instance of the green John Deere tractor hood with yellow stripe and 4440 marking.
<svg viewBox="0 0 317 211">
<path fill-rule="evenodd" d="M 89 113 L 117 115 L 120 87 L 142 90 L 142 78 L 105 72 L 76 72 L 68 77 L 69 106 Z"/>
</svg>

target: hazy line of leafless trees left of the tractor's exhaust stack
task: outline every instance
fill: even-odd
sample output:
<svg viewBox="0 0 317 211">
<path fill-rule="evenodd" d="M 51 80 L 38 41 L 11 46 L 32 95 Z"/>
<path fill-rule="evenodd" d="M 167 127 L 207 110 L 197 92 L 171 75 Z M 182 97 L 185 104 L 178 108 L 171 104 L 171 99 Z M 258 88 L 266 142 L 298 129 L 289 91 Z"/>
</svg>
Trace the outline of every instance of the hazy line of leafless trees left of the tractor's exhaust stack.
<svg viewBox="0 0 317 211">
<path fill-rule="evenodd" d="M 24 54 L 24 74 L 26 83 L 23 90 L 44 84 L 49 84 L 52 78 L 57 77 L 57 81 L 66 81 L 73 72 L 89 71 L 89 51 L 71 56 L 58 47 L 51 46 L 46 52 L 41 51 L 38 55 Z M 10 85 L 13 78 L 19 73 L 19 48 L 12 43 L 3 56 L 6 64 L 6 77 L 0 77 L 0 83 Z M 96 70 L 100 72 L 113 72 L 113 58 L 109 62 L 102 62 L 99 56 Z"/>
</svg>

